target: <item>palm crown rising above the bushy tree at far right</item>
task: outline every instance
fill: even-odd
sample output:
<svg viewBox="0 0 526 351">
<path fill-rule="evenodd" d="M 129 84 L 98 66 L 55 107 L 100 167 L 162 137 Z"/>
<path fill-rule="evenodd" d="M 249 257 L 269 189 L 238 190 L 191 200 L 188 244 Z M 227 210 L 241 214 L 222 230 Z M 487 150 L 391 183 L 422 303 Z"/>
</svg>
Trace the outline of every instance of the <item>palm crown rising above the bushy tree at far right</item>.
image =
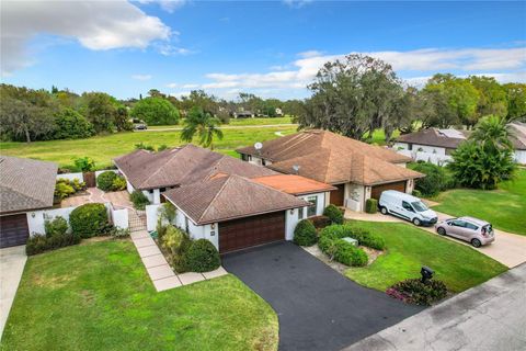
<svg viewBox="0 0 526 351">
<path fill-rule="evenodd" d="M 510 141 L 510 129 L 506 126 L 506 120 L 495 115 L 489 115 L 479 121 L 470 139 L 482 145 L 483 148 L 491 150 L 513 149 Z"/>
</svg>

